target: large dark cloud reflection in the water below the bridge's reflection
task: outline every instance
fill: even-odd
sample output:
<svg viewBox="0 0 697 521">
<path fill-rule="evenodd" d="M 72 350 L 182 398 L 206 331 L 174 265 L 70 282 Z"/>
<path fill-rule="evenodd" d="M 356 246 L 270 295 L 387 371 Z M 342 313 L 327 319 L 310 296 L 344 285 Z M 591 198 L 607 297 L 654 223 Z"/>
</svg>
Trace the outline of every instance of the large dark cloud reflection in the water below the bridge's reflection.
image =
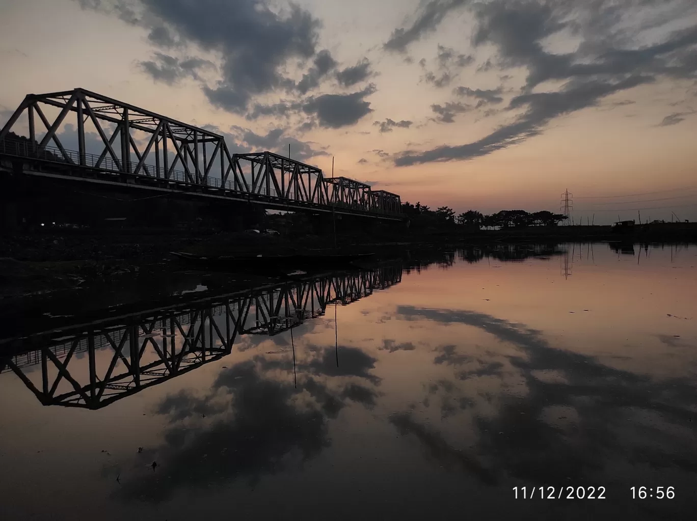
<svg viewBox="0 0 697 521">
<path fill-rule="evenodd" d="M 314 381 L 306 390 L 316 402 L 301 410 L 292 401 L 298 392 L 292 382 L 264 378 L 254 361 L 223 370 L 213 391 L 226 404 L 225 412 L 209 411 L 207 421 L 178 422 L 169 428 L 165 444 L 156 451 L 166 471 L 158 480 L 132 478 L 123 483 L 119 494 L 125 499 L 160 502 L 183 486 L 206 487 L 212 480 L 224 483 L 238 478 L 254 483 L 262 474 L 302 465 L 330 445 L 328 415 L 322 407 L 328 391 Z M 179 416 L 180 410 L 205 410 L 202 399 L 191 394 L 176 400 Z M 171 401 L 165 398 L 160 407 L 165 414 Z M 299 459 L 288 457 L 293 453 Z"/>
</svg>

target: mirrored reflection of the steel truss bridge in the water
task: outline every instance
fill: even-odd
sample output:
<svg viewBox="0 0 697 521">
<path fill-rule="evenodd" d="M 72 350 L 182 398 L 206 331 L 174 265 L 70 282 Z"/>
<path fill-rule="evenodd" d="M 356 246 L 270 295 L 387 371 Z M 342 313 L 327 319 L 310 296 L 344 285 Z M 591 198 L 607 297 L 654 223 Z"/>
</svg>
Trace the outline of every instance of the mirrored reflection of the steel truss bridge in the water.
<svg viewBox="0 0 697 521">
<path fill-rule="evenodd" d="M 229 355 L 240 334 L 273 336 L 400 281 L 401 265 L 386 265 L 95 320 L 28 337 L 0 373 L 13 371 L 43 405 L 99 409 Z"/>
</svg>

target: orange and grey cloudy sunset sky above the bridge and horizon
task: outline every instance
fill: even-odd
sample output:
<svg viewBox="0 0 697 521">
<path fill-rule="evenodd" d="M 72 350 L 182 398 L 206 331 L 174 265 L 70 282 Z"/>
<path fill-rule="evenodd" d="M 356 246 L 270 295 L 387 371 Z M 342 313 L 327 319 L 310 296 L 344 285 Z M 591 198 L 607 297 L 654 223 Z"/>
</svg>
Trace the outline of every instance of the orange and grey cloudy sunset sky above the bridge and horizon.
<svg viewBox="0 0 697 521">
<path fill-rule="evenodd" d="M 83 87 L 431 207 L 697 220 L 694 0 L 2 0 L 0 125 Z"/>
</svg>

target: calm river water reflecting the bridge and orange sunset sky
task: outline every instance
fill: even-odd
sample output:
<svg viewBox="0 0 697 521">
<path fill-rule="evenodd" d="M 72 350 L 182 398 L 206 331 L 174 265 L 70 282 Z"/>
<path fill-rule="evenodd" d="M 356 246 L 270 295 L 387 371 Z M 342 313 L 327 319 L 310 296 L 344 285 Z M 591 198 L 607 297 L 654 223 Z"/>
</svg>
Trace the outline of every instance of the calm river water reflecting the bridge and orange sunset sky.
<svg viewBox="0 0 697 521">
<path fill-rule="evenodd" d="M 15 342 L 0 519 L 695 518 L 697 247 L 429 255 Z"/>
</svg>

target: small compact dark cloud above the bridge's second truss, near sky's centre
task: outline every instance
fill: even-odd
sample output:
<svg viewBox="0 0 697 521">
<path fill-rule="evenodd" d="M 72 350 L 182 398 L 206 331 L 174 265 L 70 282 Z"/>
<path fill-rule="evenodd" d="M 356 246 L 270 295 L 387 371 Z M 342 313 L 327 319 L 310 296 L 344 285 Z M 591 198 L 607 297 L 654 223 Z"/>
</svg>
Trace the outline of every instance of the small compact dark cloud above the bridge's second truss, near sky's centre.
<svg viewBox="0 0 697 521">
<path fill-rule="evenodd" d="M 302 107 L 305 114 L 317 117 L 321 127 L 339 128 L 353 125 L 370 114 L 370 102 L 364 98 L 375 92 L 374 85 L 351 94 L 323 94 L 311 97 Z"/>
</svg>

